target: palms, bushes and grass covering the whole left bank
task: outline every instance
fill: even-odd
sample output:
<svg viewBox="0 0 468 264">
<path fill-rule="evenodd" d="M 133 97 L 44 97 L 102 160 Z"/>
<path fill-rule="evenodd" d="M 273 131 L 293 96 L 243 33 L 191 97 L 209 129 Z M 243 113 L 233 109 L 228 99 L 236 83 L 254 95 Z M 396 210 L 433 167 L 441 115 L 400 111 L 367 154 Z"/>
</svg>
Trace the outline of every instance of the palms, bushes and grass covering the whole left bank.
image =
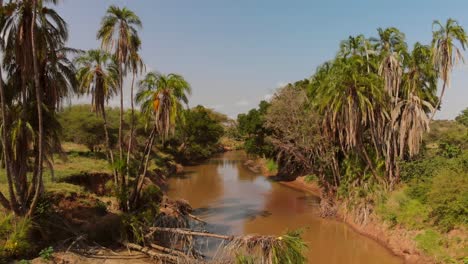
<svg viewBox="0 0 468 264">
<path fill-rule="evenodd" d="M 199 221 L 186 202 L 165 197 L 165 176 L 180 169 L 177 162 L 222 150 L 232 121 L 203 106 L 188 109 L 191 86 L 183 76 L 146 72 L 142 22 L 133 11 L 110 6 L 96 34 L 100 48 L 79 51 L 66 46 L 67 23 L 53 9 L 58 2 L 0 1 L 0 262 L 55 262 L 55 250 L 95 243 L 202 261 L 193 239 L 187 246 L 151 232 L 187 232 L 189 221 Z M 82 95 L 90 105 L 63 107 Z M 115 96 L 120 105 L 109 108 Z M 303 262 L 296 252 L 302 248 L 288 249 L 302 243 L 298 235 L 261 239 L 274 241 L 264 255 L 281 254 L 273 263 L 283 254 Z M 236 241 L 258 246 L 250 237 Z"/>
</svg>

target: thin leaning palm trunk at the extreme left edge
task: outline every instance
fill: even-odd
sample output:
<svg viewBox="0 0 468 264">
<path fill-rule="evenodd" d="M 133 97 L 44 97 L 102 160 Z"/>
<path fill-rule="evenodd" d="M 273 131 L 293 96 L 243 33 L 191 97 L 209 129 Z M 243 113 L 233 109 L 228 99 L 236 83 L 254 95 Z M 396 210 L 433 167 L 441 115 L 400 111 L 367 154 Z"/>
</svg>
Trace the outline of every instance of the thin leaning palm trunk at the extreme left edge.
<svg viewBox="0 0 468 264">
<path fill-rule="evenodd" d="M 0 7 L 3 6 L 0 5 Z M 6 118 L 6 107 L 5 107 L 5 90 L 3 87 L 2 69 L 0 67 L 0 103 L 1 103 L 1 114 L 2 114 L 2 141 L 3 141 L 3 158 L 5 161 L 5 173 L 8 182 L 8 192 L 10 193 L 10 200 L 8 201 L 2 192 L 0 192 L 0 204 L 7 209 L 13 210 L 16 214 L 18 213 L 18 203 L 16 201 L 15 192 L 13 191 L 13 180 L 11 178 L 11 162 L 10 162 L 10 141 L 7 135 L 8 121 Z"/>
</svg>

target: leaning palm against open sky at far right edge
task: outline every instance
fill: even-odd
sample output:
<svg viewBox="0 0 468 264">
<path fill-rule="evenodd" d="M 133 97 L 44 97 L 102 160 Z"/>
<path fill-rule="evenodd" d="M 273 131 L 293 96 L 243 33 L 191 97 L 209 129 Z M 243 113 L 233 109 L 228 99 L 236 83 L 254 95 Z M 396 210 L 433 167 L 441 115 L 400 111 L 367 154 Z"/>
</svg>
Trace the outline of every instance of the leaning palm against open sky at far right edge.
<svg viewBox="0 0 468 264">
<path fill-rule="evenodd" d="M 442 91 L 439 96 L 436 107 L 434 108 L 431 119 L 434 118 L 437 109 L 442 102 L 445 94 L 445 89 L 450 86 L 450 74 L 458 61 L 464 61 L 463 54 L 460 48 L 456 45 L 459 43 L 461 48 L 465 50 L 468 39 L 465 30 L 458 24 L 456 20 L 449 18 L 445 26 L 436 20 L 432 24 L 433 27 L 438 27 L 432 34 L 432 52 L 433 64 L 436 67 L 439 76 L 443 82 Z"/>
</svg>

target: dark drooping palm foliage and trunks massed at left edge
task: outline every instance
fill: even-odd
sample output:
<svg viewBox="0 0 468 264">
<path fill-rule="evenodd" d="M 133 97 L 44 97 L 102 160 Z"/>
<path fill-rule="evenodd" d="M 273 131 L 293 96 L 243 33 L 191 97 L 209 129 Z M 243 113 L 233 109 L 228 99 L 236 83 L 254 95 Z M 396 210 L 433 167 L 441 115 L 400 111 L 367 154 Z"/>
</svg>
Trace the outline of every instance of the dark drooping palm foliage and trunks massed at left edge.
<svg viewBox="0 0 468 264">
<path fill-rule="evenodd" d="M 56 111 L 76 92 L 70 60 L 76 50 L 65 46 L 67 24 L 53 6 L 44 1 L 3 5 L 1 10 L 9 12 L 0 16 L 0 110 L 9 197 L 0 192 L 0 203 L 16 215 L 30 216 L 43 191 L 43 162 L 50 163 L 60 151 Z M 27 177 L 28 166 L 32 177 Z"/>
</svg>

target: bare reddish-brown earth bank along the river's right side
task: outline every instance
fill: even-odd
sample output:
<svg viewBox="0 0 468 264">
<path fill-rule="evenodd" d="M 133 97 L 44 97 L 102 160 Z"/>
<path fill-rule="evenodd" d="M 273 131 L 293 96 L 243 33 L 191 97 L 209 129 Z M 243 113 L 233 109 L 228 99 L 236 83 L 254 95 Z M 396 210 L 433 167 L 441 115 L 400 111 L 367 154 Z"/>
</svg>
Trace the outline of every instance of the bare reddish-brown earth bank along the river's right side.
<svg viewBox="0 0 468 264">
<path fill-rule="evenodd" d="M 248 160 L 244 165 L 253 172 L 261 173 L 282 185 L 321 197 L 322 192 L 318 182 L 308 182 L 306 180 L 306 176 L 297 177 L 292 181 L 282 181 L 276 177 L 275 171 L 268 169 L 267 161 L 262 158 Z M 417 249 L 414 240 L 411 239 L 411 237 L 415 236 L 415 234 L 413 234 L 415 231 L 409 231 L 401 227 L 389 228 L 389 226 L 379 220 L 375 214 L 371 215 L 366 224 L 360 224 L 354 220 L 352 212 L 346 212 L 345 205 L 340 202 L 338 202 L 338 210 L 335 219 L 347 224 L 357 233 L 378 242 L 380 245 L 392 252 L 392 254 L 402 258 L 405 263 L 436 263 L 433 259 L 425 256 Z"/>
</svg>

